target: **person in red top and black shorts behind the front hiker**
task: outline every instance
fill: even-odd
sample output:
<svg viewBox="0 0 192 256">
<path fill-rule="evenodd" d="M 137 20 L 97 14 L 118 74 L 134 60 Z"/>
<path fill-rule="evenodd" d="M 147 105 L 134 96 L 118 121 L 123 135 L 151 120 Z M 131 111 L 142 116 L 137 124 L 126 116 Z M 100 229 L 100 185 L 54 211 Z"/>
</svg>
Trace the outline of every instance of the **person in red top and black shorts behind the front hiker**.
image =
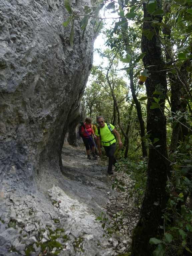
<svg viewBox="0 0 192 256">
<path fill-rule="evenodd" d="M 86 148 L 87 158 L 91 159 L 91 156 L 90 156 L 90 147 L 91 147 L 91 149 L 93 151 L 93 157 L 96 159 L 97 156 L 95 154 L 95 145 L 94 145 L 94 141 L 91 137 L 91 134 L 93 134 L 94 138 L 97 138 L 97 137 L 95 136 L 95 134 L 93 132 L 91 122 L 92 122 L 92 119 L 90 117 L 87 117 L 85 119 L 85 122 L 81 126 L 81 134 L 83 135 L 82 139 L 83 139 L 83 143 Z"/>
</svg>

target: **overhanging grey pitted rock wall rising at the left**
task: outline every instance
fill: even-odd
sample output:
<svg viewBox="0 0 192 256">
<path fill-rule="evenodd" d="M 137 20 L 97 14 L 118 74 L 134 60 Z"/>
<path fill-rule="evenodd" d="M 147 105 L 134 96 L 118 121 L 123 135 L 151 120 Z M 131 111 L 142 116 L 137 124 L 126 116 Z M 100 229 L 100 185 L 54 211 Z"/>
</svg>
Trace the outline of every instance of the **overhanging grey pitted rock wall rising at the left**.
<svg viewBox="0 0 192 256">
<path fill-rule="evenodd" d="M 93 28 L 81 40 L 76 22 L 72 48 L 67 17 L 62 0 L 0 3 L 0 175 L 26 187 L 42 163 L 58 167 L 92 65 Z"/>
</svg>

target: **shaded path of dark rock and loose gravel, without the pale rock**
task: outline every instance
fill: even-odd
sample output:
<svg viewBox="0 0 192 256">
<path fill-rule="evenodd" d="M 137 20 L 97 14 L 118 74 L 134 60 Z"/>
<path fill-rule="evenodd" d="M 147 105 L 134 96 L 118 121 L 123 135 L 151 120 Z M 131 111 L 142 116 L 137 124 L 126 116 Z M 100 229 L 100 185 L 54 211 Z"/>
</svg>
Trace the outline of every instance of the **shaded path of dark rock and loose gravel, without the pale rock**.
<svg viewBox="0 0 192 256">
<path fill-rule="evenodd" d="M 93 189 L 96 187 L 97 191 L 93 192 L 93 194 L 97 193 L 98 196 L 96 200 L 92 198 L 91 207 L 98 215 L 103 212 L 102 218 L 109 217 L 109 221 L 105 222 L 103 220 L 102 223 L 105 222 L 106 224 L 104 229 L 106 232 L 107 230 L 109 233 L 115 231 L 115 239 L 109 239 L 111 244 L 113 244 L 114 251 L 117 254 L 129 252 L 132 231 L 139 218 L 139 208 L 135 206 L 136 198 L 132 195 L 134 194 L 132 193 L 134 181 L 131 179 L 131 175 L 126 174 L 123 167 L 120 167 L 119 170 L 114 169 L 114 174 L 108 175 L 107 158 L 100 159 L 98 157 L 97 160 L 86 159 L 85 149 L 82 145 L 75 148 L 71 146 L 64 147 L 62 159 L 64 175 L 79 183 L 89 185 L 88 188 L 91 189 L 91 192 L 86 192 L 89 195 L 92 194 Z M 74 174 L 76 168 L 78 172 Z M 120 185 L 123 183 L 124 186 Z M 121 188 L 119 189 L 118 186 L 122 187 L 125 191 L 121 191 Z M 86 196 L 84 195 L 85 198 Z M 97 205 L 100 205 L 99 209 L 97 209 Z"/>
</svg>

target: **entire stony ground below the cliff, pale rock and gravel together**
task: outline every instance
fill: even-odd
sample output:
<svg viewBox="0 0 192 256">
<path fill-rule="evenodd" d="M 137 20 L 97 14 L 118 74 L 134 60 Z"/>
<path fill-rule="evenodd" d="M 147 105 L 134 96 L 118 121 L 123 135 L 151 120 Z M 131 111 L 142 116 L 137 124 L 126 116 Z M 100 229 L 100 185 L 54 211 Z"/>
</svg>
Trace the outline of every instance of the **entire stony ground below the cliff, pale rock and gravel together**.
<svg viewBox="0 0 192 256">
<path fill-rule="evenodd" d="M 125 174 L 123 166 L 108 175 L 107 158 L 87 159 L 82 144 L 65 143 L 62 162 L 62 173 L 55 161 L 43 162 L 33 191 L 25 188 L 21 193 L 19 182 L 11 193 L 4 191 L 0 254 L 127 256 L 139 216 L 131 175 Z M 125 184 L 124 192 L 119 182 Z M 101 213 L 106 218 L 104 229 L 96 220 Z M 114 223 L 118 224 L 116 231 L 111 229 Z"/>
</svg>

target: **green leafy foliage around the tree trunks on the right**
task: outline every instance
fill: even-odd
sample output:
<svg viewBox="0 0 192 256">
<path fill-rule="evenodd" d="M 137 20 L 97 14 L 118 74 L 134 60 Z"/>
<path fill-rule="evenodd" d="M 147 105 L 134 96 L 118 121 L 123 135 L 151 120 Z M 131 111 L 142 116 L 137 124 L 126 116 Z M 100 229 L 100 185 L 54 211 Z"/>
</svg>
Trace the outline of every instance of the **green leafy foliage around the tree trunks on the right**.
<svg viewBox="0 0 192 256">
<path fill-rule="evenodd" d="M 72 45 L 74 19 L 78 15 L 69 1 L 66 0 L 64 3 L 70 17 L 63 25 L 67 26 L 69 22 L 72 22 L 70 38 Z M 192 207 L 188 201 L 192 200 L 192 1 L 102 1 L 98 6 L 85 6 L 83 18 L 80 21 L 82 30 L 86 29 L 89 20 L 98 28 L 100 21 L 103 20 L 103 18 L 97 17 L 101 8 L 104 8 L 105 12 L 110 12 L 113 19 L 111 27 L 105 31 L 108 50 L 101 53 L 102 57 L 109 60 L 108 71 L 104 70 L 101 65 L 93 67 L 92 81 L 84 94 L 84 104 L 88 109 L 88 114 L 92 116 L 102 114 L 112 122 L 116 120 L 117 109 L 112 104 L 115 97 L 121 109 L 121 122 L 118 121 L 118 124 L 121 124 L 123 130 L 128 131 L 129 159 L 133 159 L 136 154 L 137 156 L 141 155 L 141 150 L 137 150 L 137 146 L 140 145 L 138 139 L 140 126 L 129 92 L 129 82 L 124 82 L 124 76 L 128 77 L 129 72 L 133 71 L 134 91 L 140 98 L 145 126 L 146 105 L 149 106 L 150 114 L 154 114 L 153 124 L 158 121 L 157 113 L 159 111 L 165 115 L 169 156 L 160 153 L 162 144 L 158 134 L 151 138 L 151 132 L 148 132 L 141 138 L 148 145 L 148 150 L 158 152 L 159 158 L 166 158 L 171 166 L 167 182 L 167 192 L 170 196 L 162 213 L 164 226 L 159 227 L 160 235 L 151 238 L 149 242 L 156 245 L 153 255 L 181 255 L 184 251 L 191 253 Z M 145 17 L 143 17 L 143 11 L 147 12 Z M 143 24 L 149 26 L 143 29 Z M 156 65 L 152 65 L 150 61 L 144 67 L 143 61 L 149 58 L 147 50 L 141 49 L 141 41 L 144 38 L 148 42 L 154 40 L 158 42 L 158 47 L 162 52 L 162 61 L 165 63 L 162 70 L 157 70 Z M 156 53 L 151 52 L 151 54 Z M 119 61 L 122 65 L 121 72 L 117 72 Z M 145 63 L 147 62 L 145 61 Z M 167 93 L 165 95 L 165 91 L 159 84 L 156 84 L 151 95 L 147 94 L 146 96 L 143 84 L 155 83 L 151 81 L 155 72 L 156 74 L 166 73 Z M 108 81 L 106 81 L 106 74 Z M 148 87 L 146 89 L 149 90 Z M 121 151 L 118 154 L 123 157 Z M 145 166 L 142 161 L 137 165 Z M 144 189 L 141 189 L 142 186 L 145 188 L 144 184 L 145 181 L 137 181 L 134 189 L 144 193 Z M 115 186 L 124 190 L 123 184 L 118 180 L 115 181 Z M 100 216 L 102 224 L 108 221 L 105 218 L 103 214 Z"/>
</svg>

